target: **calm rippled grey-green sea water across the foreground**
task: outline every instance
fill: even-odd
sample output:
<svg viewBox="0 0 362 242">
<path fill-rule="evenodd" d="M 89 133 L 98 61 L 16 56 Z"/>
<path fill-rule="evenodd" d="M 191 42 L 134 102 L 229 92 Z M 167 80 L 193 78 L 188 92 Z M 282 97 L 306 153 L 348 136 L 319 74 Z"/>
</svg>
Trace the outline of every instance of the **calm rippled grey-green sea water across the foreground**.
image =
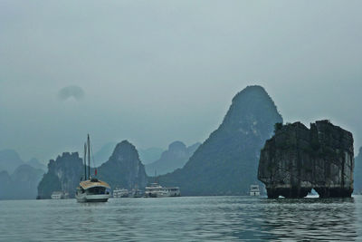
<svg viewBox="0 0 362 242">
<path fill-rule="evenodd" d="M 360 240 L 362 196 L 0 201 L 4 241 Z"/>
</svg>

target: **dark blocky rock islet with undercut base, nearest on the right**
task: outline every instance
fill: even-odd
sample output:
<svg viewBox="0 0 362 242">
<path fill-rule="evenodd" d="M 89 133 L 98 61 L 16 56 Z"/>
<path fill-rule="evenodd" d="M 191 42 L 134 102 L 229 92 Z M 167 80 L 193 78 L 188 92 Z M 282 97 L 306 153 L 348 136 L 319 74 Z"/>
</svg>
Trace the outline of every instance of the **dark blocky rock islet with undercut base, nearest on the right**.
<svg viewBox="0 0 362 242">
<path fill-rule="evenodd" d="M 329 121 L 310 129 L 300 122 L 276 125 L 261 151 L 258 179 L 269 198 L 303 198 L 315 189 L 321 198 L 350 197 L 353 191 L 352 133 Z"/>
</svg>

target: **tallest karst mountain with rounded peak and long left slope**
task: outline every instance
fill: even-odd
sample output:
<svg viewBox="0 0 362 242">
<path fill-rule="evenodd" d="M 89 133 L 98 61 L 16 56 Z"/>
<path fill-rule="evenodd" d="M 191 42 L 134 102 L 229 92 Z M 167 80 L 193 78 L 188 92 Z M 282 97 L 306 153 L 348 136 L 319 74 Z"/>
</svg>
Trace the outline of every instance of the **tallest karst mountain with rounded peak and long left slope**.
<svg viewBox="0 0 362 242">
<path fill-rule="evenodd" d="M 282 122 L 261 86 L 249 86 L 233 97 L 223 123 L 195 150 L 182 169 L 161 176 L 165 186 L 183 195 L 246 195 L 257 182 L 260 150 L 274 124 Z"/>
</svg>

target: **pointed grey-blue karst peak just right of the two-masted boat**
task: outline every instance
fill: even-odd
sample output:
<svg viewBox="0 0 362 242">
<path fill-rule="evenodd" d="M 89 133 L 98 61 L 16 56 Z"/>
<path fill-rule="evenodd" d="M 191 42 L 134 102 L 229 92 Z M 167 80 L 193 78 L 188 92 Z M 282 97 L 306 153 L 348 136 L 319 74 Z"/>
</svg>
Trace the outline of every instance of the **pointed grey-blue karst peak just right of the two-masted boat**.
<svg viewBox="0 0 362 242">
<path fill-rule="evenodd" d="M 110 160 L 99 168 L 99 178 L 107 181 L 112 189 L 144 189 L 148 179 L 138 151 L 129 141 L 123 140 L 114 149 Z"/>
</svg>

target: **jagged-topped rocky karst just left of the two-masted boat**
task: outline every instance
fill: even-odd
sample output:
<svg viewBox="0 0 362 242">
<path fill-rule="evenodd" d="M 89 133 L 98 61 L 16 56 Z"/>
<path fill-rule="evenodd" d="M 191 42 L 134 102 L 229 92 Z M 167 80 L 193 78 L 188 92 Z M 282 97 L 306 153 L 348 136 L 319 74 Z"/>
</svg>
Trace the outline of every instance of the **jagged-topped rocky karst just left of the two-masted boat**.
<svg viewBox="0 0 362 242">
<path fill-rule="evenodd" d="M 56 160 L 50 160 L 48 172 L 38 185 L 38 198 L 51 198 L 52 192 L 57 190 L 66 191 L 74 198 L 83 170 L 78 152 L 64 152 Z"/>
</svg>

